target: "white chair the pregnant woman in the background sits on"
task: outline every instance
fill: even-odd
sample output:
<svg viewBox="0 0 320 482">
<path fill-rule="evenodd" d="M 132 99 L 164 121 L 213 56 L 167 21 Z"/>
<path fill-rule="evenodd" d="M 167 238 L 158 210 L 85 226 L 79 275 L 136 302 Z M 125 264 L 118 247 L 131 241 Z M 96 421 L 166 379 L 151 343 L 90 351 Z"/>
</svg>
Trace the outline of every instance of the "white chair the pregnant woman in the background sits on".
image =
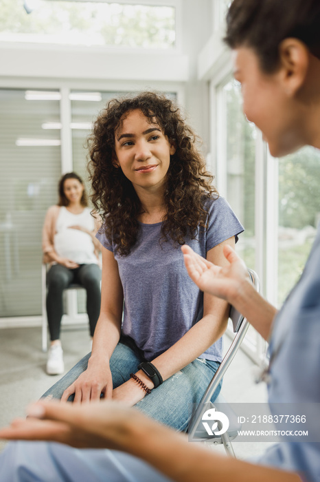
<svg viewBox="0 0 320 482">
<path fill-rule="evenodd" d="M 65 289 L 65 291 L 75 291 L 84 289 L 81 284 L 71 283 Z M 67 295 L 76 295 L 76 293 L 67 293 Z M 47 265 L 43 264 L 41 267 L 41 306 L 42 306 L 42 349 L 44 352 L 47 351 L 47 343 L 48 343 L 48 319 L 47 319 Z M 68 315 L 70 317 L 76 317 L 78 313 L 77 308 L 77 297 L 76 296 L 68 296 Z M 86 324 L 87 315 L 85 319 Z"/>
</svg>

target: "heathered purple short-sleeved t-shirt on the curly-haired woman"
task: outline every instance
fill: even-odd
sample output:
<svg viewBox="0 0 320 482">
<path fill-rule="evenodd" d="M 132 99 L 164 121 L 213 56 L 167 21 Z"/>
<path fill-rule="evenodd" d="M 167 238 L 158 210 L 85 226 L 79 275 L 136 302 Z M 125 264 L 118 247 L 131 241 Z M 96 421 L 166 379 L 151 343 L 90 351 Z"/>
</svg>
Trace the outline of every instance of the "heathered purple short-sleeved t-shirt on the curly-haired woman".
<svg viewBox="0 0 320 482">
<path fill-rule="evenodd" d="M 196 239 L 186 244 L 204 258 L 207 251 L 244 229 L 224 198 L 205 202 L 207 229 L 199 229 Z M 148 361 L 168 350 L 203 317 L 203 293 L 192 282 L 179 246 L 159 243 L 161 222 L 139 223 L 137 242 L 127 256 L 115 252 L 115 245 L 103 232 L 102 245 L 115 252 L 124 289 L 122 333 L 131 337 Z M 222 339 L 207 348 L 203 358 L 222 359 Z"/>
</svg>

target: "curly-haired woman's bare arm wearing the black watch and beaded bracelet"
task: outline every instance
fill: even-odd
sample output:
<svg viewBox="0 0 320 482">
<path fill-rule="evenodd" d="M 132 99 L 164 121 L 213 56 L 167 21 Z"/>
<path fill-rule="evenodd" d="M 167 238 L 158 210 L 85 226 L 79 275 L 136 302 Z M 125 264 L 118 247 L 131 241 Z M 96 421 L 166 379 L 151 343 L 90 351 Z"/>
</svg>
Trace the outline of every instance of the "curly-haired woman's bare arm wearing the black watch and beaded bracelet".
<svg viewBox="0 0 320 482">
<path fill-rule="evenodd" d="M 227 264 L 223 255 L 223 247 L 234 246 L 234 237 L 225 240 L 207 252 L 207 258 L 221 266 Z M 168 350 L 152 360 L 152 364 L 161 373 L 163 381 L 170 378 L 174 373 L 181 370 L 202 355 L 209 346 L 214 344 L 227 328 L 229 305 L 225 300 L 205 293 L 203 300 L 203 318 L 190 328 L 178 342 Z M 152 381 L 142 370 L 137 370 L 136 375 L 150 389 L 153 388 Z M 141 390 L 139 385 L 130 379 L 113 390 L 113 398 L 133 406 L 144 398 L 146 392 Z"/>
</svg>

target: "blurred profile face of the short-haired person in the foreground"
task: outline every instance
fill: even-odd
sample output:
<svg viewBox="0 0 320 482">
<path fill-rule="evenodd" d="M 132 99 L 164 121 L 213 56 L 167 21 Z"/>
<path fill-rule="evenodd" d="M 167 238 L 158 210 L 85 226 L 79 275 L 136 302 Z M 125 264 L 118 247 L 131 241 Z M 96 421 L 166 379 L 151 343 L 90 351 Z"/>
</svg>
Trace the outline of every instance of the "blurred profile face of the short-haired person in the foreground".
<svg viewBox="0 0 320 482">
<path fill-rule="evenodd" d="M 273 156 L 284 156 L 304 145 L 304 125 L 297 102 L 288 96 L 281 68 L 262 72 L 251 48 L 233 52 L 234 77 L 242 86 L 243 112 L 262 131 Z"/>
</svg>

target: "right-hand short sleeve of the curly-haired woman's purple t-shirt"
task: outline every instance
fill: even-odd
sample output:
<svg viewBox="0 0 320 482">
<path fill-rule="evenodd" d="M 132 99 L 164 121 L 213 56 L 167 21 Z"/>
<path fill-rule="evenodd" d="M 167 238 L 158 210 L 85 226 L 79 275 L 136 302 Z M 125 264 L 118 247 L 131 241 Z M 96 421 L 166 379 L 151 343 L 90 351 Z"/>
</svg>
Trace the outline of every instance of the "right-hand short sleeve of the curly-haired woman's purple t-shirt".
<svg viewBox="0 0 320 482">
<path fill-rule="evenodd" d="M 244 231 L 244 227 L 225 198 L 211 199 L 208 201 L 208 205 L 207 203 L 205 205 L 208 211 L 206 251 L 232 236 L 238 242 L 238 235 Z"/>
</svg>

